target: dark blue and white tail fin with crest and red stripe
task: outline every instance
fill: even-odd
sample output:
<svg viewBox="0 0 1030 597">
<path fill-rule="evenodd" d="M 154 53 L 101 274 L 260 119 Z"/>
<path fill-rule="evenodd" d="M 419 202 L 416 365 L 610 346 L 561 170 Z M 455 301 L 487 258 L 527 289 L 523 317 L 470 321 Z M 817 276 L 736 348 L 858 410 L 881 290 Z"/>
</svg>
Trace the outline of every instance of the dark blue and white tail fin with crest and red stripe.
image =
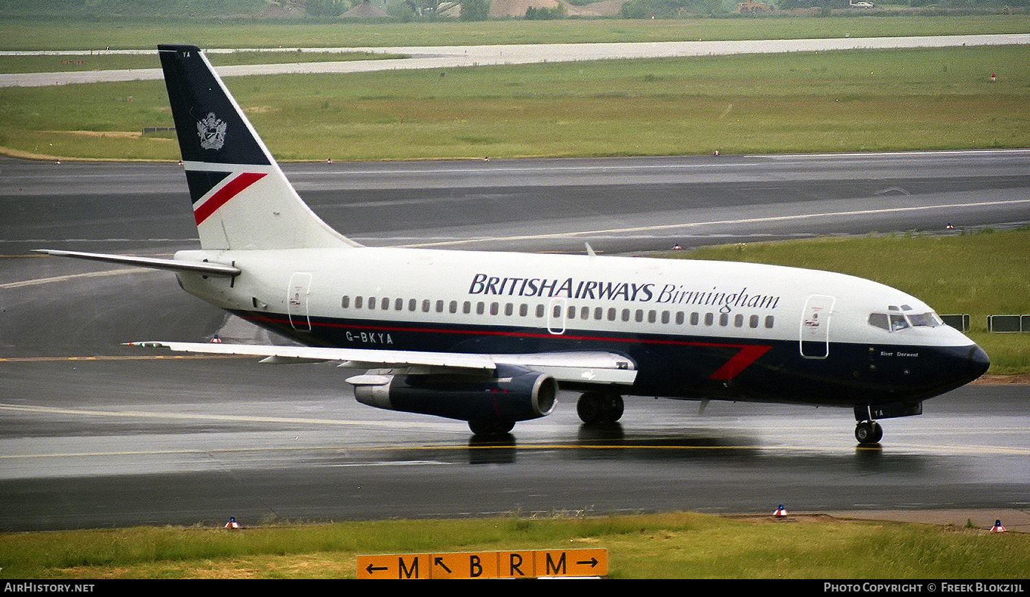
<svg viewBox="0 0 1030 597">
<path fill-rule="evenodd" d="M 301 200 L 200 48 L 158 54 L 201 248 L 359 246 Z"/>
</svg>

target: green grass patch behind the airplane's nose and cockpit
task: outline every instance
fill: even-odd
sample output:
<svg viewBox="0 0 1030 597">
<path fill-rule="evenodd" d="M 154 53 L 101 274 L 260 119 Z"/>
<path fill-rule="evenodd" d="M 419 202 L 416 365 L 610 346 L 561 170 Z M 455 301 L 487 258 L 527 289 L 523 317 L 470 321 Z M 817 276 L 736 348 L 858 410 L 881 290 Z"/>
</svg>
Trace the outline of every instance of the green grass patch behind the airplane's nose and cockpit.
<svg viewBox="0 0 1030 597">
<path fill-rule="evenodd" d="M 1030 333 L 989 333 L 988 315 L 1030 313 L 1030 231 L 892 234 L 706 247 L 666 256 L 810 268 L 876 280 L 940 314 L 968 314 L 991 374 L 1030 372 Z"/>
</svg>

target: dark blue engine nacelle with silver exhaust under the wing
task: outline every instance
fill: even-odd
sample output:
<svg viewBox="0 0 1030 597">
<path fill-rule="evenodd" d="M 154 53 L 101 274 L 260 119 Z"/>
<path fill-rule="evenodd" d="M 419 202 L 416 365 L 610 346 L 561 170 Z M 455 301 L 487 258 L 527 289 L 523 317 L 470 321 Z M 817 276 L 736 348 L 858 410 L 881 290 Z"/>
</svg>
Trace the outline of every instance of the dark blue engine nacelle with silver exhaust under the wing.
<svg viewBox="0 0 1030 597">
<path fill-rule="evenodd" d="M 554 378 L 499 365 L 494 375 L 367 374 L 347 380 L 358 402 L 461 421 L 525 421 L 548 415 L 557 401 Z"/>
</svg>

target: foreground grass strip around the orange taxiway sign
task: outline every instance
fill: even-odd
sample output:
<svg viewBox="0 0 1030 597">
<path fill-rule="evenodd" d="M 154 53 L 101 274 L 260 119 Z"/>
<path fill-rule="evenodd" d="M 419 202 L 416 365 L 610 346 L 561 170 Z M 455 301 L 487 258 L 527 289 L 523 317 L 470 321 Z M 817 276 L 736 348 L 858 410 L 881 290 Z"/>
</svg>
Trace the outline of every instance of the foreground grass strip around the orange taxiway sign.
<svg viewBox="0 0 1030 597">
<path fill-rule="evenodd" d="M 675 513 L 5 534 L 0 576 L 353 578 L 363 554 L 560 548 L 607 549 L 616 578 L 1026 578 L 1030 570 L 1025 534 Z"/>
</svg>

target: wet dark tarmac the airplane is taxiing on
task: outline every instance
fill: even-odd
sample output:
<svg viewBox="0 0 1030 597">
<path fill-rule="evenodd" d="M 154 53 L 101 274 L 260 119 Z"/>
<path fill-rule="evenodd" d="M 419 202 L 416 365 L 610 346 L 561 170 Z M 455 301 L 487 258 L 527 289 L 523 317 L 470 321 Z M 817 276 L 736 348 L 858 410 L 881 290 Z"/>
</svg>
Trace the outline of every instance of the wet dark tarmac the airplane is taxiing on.
<svg viewBox="0 0 1030 597">
<path fill-rule="evenodd" d="M 1030 219 L 1030 151 L 287 165 L 368 244 L 637 253 Z M 254 335 L 174 277 L 29 256 L 195 243 L 176 165 L 0 161 L 3 530 L 666 510 L 1027 510 L 1024 387 L 973 385 L 884 422 L 850 411 L 575 395 L 512 437 L 356 403 L 331 364 L 167 358 L 134 340 Z M 127 271 L 128 270 L 128 271 Z M 985 514 L 984 516 L 989 516 Z M 964 519 L 963 519 L 964 521 Z M 989 524 L 991 521 L 974 521 Z M 1011 524 L 1008 524 L 1012 528 Z"/>
</svg>

